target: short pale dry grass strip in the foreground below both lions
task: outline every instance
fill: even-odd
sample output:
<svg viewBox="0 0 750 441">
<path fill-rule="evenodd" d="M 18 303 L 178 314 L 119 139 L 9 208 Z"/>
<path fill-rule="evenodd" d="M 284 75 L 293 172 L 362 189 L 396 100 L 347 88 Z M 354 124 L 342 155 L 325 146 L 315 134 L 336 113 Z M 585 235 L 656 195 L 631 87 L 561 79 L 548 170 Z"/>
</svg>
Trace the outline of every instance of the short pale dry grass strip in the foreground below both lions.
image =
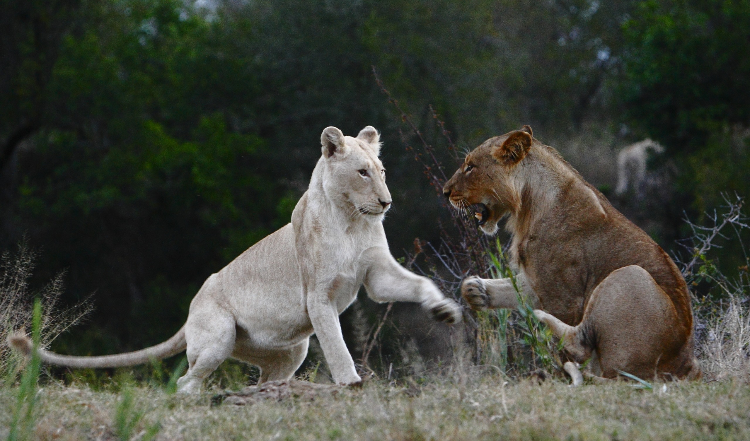
<svg viewBox="0 0 750 441">
<path fill-rule="evenodd" d="M 653 390 L 625 382 L 577 389 L 558 380 L 502 383 L 489 376 L 408 387 L 373 380 L 312 400 L 245 406 L 217 404 L 218 389 L 185 397 L 150 386 L 115 393 L 52 384 L 38 393 L 32 437 L 141 440 L 157 431 L 156 440 L 750 439 L 750 387 L 744 383 L 667 383 Z M 15 392 L 0 389 L 1 439 Z"/>
</svg>

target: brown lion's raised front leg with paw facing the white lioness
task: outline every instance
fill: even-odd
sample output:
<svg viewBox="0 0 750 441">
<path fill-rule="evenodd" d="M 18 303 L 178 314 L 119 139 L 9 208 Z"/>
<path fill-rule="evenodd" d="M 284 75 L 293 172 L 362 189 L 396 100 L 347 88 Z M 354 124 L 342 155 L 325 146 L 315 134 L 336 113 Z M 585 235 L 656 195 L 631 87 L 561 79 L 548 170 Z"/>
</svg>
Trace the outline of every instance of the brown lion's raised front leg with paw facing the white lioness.
<svg viewBox="0 0 750 441">
<path fill-rule="evenodd" d="M 532 300 L 535 300 L 535 296 L 533 296 L 528 284 L 526 284 L 526 278 L 523 277 L 523 273 L 516 277 L 516 284 L 523 290 L 523 293 L 526 293 Z M 461 284 L 461 296 L 475 311 L 518 308 L 516 291 L 510 278 L 482 279 L 471 276 L 464 279 L 463 284 Z"/>
</svg>

